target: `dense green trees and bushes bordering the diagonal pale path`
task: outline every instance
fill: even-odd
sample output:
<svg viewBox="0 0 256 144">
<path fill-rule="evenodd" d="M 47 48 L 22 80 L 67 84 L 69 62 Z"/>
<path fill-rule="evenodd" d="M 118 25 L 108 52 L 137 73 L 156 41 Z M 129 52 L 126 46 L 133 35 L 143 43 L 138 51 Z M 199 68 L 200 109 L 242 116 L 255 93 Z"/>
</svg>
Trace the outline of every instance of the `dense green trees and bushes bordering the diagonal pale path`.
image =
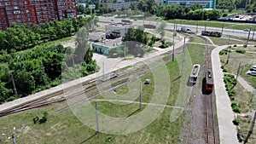
<svg viewBox="0 0 256 144">
<path fill-rule="evenodd" d="M 68 81 L 96 72 L 86 32 L 85 27 L 78 32 L 76 49 L 46 43 L 11 54 L 3 51 L 0 55 L 0 103 L 61 84 L 63 79 Z"/>
</svg>

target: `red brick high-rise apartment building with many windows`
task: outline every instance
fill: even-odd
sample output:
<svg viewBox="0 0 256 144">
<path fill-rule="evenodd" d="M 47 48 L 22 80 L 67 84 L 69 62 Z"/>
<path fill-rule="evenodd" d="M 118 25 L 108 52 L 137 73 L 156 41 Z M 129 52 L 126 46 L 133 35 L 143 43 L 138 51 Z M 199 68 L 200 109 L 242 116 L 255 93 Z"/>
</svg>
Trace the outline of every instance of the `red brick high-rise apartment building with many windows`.
<svg viewBox="0 0 256 144">
<path fill-rule="evenodd" d="M 0 29 L 12 23 L 42 24 L 77 15 L 75 0 L 0 0 Z"/>
</svg>

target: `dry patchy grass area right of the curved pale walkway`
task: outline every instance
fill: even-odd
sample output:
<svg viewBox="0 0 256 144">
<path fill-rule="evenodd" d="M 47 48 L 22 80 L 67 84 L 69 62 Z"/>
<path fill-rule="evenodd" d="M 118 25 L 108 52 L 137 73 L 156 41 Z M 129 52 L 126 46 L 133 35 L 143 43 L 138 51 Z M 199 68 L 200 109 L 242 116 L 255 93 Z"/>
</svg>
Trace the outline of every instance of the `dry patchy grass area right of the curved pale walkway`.
<svg viewBox="0 0 256 144">
<path fill-rule="evenodd" d="M 232 47 L 232 49 L 237 49 L 237 48 Z M 244 49 L 244 48 L 239 48 L 239 49 Z M 248 47 L 245 49 L 255 50 L 256 48 Z M 223 65 L 225 64 L 227 57 L 228 55 L 220 56 Z M 239 53 L 236 53 L 235 51 L 232 51 L 230 53 L 229 64 L 226 64 L 225 66 L 228 68 L 229 72 L 236 74 L 238 65 L 241 62 L 240 77 L 244 78 L 249 84 L 251 84 L 254 88 L 256 88 L 256 78 L 245 74 L 245 72 L 248 71 L 251 65 L 253 64 L 255 65 L 255 58 L 256 58 L 255 54 L 249 54 L 249 53 L 239 54 Z M 247 89 L 244 89 L 239 83 L 236 84 L 234 89 L 236 91 L 235 101 L 238 103 L 239 107 L 241 108 L 241 113 L 242 113 L 242 115 L 237 116 L 237 118 L 240 120 L 239 128 L 241 130 L 242 135 L 247 136 L 247 132 L 250 129 L 251 122 L 252 122 L 252 115 L 250 115 L 250 112 L 253 112 L 256 108 L 256 98 L 255 98 L 255 95 L 247 92 Z M 256 130 L 255 127 L 254 127 L 254 130 Z M 249 141 L 251 143 L 256 143 L 256 135 L 252 134 Z"/>
</svg>

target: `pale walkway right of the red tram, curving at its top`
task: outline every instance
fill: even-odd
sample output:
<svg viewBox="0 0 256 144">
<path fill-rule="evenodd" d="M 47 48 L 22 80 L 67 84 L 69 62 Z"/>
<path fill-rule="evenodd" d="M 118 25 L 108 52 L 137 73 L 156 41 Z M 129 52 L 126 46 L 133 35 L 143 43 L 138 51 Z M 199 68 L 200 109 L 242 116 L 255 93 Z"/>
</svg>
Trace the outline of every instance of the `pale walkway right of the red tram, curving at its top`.
<svg viewBox="0 0 256 144">
<path fill-rule="evenodd" d="M 212 50 L 212 72 L 214 80 L 214 92 L 216 95 L 216 109 L 218 116 L 218 131 L 220 144 L 238 144 L 236 137 L 236 126 L 232 124 L 235 118 L 234 113 L 230 107 L 231 102 L 224 86 L 224 73 L 220 68 L 221 63 L 219 59 L 219 51 L 227 48 L 227 45 L 219 46 Z"/>
</svg>

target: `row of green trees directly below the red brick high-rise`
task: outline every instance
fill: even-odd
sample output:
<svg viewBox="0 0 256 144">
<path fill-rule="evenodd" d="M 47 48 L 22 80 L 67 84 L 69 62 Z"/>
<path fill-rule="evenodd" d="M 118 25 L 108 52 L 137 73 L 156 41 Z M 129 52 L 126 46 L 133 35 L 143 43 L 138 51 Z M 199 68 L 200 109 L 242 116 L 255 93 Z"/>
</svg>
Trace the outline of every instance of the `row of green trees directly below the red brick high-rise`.
<svg viewBox="0 0 256 144">
<path fill-rule="evenodd" d="M 7 50 L 8 53 L 20 51 L 33 46 L 62 37 L 69 37 L 77 32 L 80 27 L 96 24 L 97 18 L 94 16 L 86 18 L 70 18 L 63 21 L 51 21 L 42 25 L 26 24 L 18 25 L 13 23 L 6 31 L 0 31 L 0 51 Z"/>
</svg>

